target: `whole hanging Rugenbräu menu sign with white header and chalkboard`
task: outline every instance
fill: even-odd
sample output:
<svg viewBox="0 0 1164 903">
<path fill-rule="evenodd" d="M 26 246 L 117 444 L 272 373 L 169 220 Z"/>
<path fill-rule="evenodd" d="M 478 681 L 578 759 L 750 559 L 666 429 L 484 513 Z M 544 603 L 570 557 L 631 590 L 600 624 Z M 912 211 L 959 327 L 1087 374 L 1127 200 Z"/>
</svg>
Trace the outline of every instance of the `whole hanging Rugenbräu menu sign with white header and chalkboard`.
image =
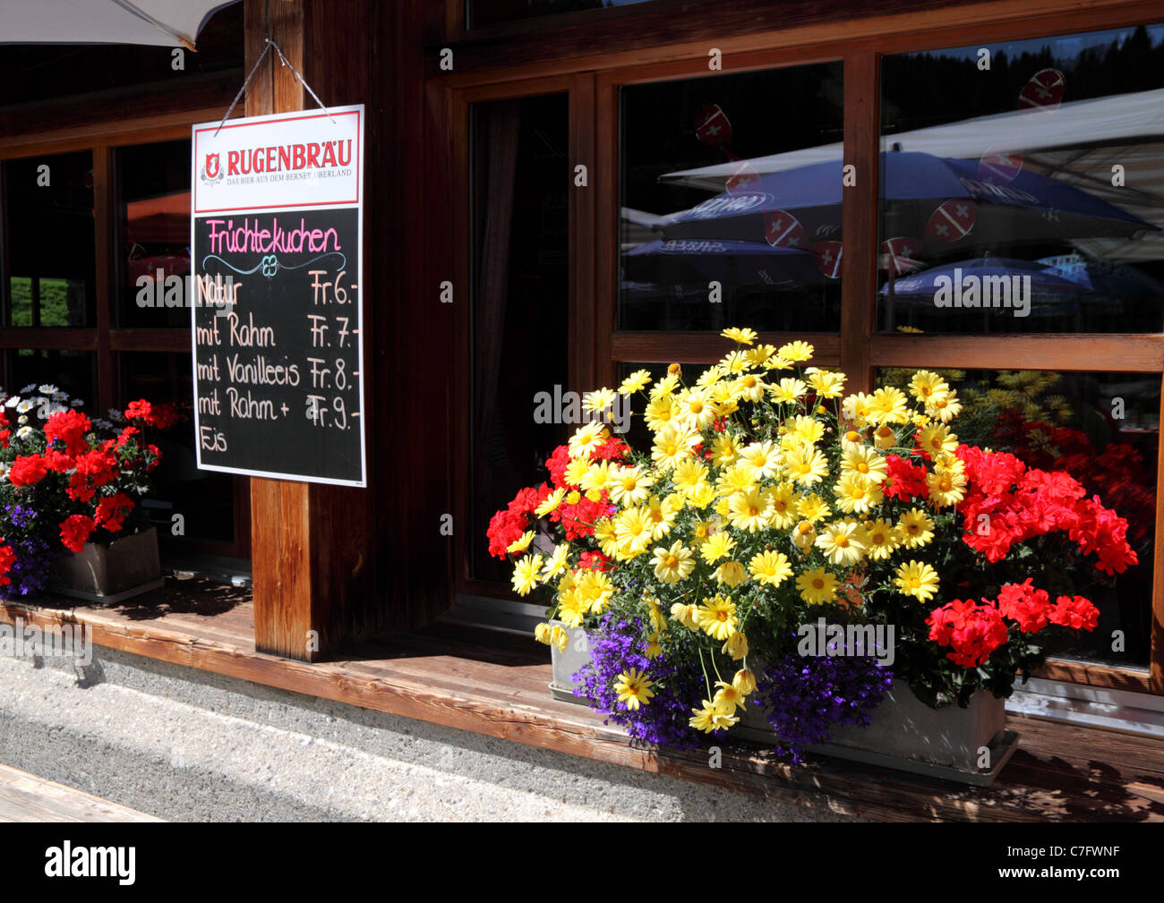
<svg viewBox="0 0 1164 903">
<path fill-rule="evenodd" d="M 198 467 L 365 485 L 363 106 L 193 128 Z"/>
</svg>

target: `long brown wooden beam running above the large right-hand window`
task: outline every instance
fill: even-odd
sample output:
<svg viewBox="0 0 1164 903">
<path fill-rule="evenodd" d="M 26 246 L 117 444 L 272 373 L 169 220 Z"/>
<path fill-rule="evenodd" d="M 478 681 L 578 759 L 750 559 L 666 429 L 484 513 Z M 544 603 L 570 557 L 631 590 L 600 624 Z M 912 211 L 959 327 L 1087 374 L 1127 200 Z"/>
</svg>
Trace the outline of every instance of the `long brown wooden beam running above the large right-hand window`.
<svg viewBox="0 0 1164 903">
<path fill-rule="evenodd" d="M 644 63 L 707 62 L 708 49 L 723 52 L 724 70 L 739 55 L 764 51 L 772 65 L 785 51 L 814 47 L 833 55 L 893 54 L 904 49 L 961 47 L 972 42 L 1045 37 L 1114 28 L 1159 19 L 1159 6 L 1145 0 L 993 0 L 944 2 L 915 0 L 719 0 L 674 5 L 644 3 L 601 13 L 528 20 L 473 29 L 467 40 L 432 44 L 430 76 L 456 85 L 513 78 L 546 78 L 585 70 Z M 714 35 L 714 37 L 709 37 Z M 438 51 L 453 50 L 454 69 L 439 69 Z M 775 51 L 775 54 L 774 54 Z"/>
</svg>

